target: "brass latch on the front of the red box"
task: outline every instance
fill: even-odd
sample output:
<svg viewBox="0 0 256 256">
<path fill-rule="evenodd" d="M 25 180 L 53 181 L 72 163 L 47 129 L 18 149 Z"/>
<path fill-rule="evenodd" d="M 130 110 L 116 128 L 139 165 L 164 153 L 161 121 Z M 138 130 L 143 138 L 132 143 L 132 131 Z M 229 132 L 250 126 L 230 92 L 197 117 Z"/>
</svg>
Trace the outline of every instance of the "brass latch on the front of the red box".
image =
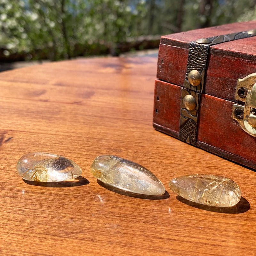
<svg viewBox="0 0 256 256">
<path fill-rule="evenodd" d="M 256 73 L 237 80 L 235 99 L 244 102 L 244 106 L 233 104 L 232 118 L 256 137 Z"/>
</svg>

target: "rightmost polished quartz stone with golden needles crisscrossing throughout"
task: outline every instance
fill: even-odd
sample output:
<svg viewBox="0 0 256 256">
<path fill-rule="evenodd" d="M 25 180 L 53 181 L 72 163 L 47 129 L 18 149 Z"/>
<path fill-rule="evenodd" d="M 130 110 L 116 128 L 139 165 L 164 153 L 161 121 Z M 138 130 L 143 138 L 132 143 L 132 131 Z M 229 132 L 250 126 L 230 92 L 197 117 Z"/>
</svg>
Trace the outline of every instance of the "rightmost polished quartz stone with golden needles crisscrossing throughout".
<svg viewBox="0 0 256 256">
<path fill-rule="evenodd" d="M 222 176 L 192 174 L 172 179 L 169 187 L 179 196 L 198 204 L 230 207 L 241 198 L 235 181 Z"/>
</svg>

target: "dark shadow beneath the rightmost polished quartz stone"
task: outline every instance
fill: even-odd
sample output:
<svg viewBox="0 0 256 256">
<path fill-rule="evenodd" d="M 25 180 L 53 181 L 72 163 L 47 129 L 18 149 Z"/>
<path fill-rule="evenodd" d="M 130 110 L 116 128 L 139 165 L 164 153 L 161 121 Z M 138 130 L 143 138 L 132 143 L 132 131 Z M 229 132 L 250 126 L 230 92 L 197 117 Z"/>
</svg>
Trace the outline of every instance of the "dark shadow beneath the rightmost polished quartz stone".
<svg viewBox="0 0 256 256">
<path fill-rule="evenodd" d="M 241 197 L 240 201 L 232 207 L 216 207 L 216 206 L 198 204 L 198 203 L 191 202 L 181 196 L 176 196 L 176 199 L 183 204 L 187 204 L 197 209 L 210 211 L 210 212 L 237 214 L 237 213 L 247 212 L 251 207 L 250 203 L 243 196 Z"/>
</svg>

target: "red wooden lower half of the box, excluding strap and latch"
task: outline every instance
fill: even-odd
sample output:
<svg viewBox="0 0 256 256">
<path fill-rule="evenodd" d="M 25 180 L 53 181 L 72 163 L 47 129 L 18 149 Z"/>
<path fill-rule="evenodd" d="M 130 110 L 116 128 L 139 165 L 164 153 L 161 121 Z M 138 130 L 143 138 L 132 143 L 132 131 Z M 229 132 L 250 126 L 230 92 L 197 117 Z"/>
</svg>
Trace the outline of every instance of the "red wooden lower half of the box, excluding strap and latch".
<svg viewBox="0 0 256 256">
<path fill-rule="evenodd" d="M 153 127 L 177 139 L 180 92 L 180 86 L 156 80 Z M 196 146 L 255 169 L 256 151 L 251 149 L 255 148 L 256 138 L 231 118 L 232 105 L 231 101 L 202 95 Z"/>
</svg>

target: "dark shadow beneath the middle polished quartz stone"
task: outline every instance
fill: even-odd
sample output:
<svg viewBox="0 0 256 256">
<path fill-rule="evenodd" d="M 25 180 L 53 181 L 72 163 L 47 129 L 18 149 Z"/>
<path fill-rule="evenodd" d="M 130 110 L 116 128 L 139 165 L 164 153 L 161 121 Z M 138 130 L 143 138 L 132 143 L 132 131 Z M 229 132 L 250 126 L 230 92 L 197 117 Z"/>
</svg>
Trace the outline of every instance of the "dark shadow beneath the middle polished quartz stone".
<svg viewBox="0 0 256 256">
<path fill-rule="evenodd" d="M 170 197 L 169 193 L 166 190 L 165 190 L 165 193 L 161 196 L 143 195 L 143 194 L 137 194 L 137 193 L 125 191 L 120 188 L 112 187 L 108 184 L 105 184 L 104 182 L 102 182 L 100 180 L 97 180 L 97 182 L 101 187 L 106 188 L 114 193 L 117 193 L 117 194 L 120 194 L 123 196 L 130 196 L 130 197 L 136 197 L 136 198 L 140 198 L 140 199 L 149 199 L 149 200 L 160 200 L 160 199 L 166 199 L 166 198 Z"/>
</svg>

